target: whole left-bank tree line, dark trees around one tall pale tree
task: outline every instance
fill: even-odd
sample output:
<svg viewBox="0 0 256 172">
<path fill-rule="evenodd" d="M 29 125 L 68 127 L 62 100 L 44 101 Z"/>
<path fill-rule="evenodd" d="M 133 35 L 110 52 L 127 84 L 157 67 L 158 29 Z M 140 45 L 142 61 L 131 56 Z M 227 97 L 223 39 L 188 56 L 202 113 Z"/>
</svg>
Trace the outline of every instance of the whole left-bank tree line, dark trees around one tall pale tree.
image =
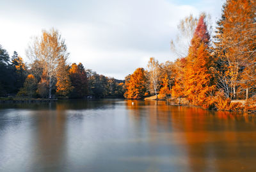
<svg viewBox="0 0 256 172">
<path fill-rule="evenodd" d="M 29 65 L 0 45 L 0 97 L 106 98 L 123 97 L 124 81 L 67 64 L 69 53 L 58 31 L 42 31 L 27 49 Z"/>
</svg>

